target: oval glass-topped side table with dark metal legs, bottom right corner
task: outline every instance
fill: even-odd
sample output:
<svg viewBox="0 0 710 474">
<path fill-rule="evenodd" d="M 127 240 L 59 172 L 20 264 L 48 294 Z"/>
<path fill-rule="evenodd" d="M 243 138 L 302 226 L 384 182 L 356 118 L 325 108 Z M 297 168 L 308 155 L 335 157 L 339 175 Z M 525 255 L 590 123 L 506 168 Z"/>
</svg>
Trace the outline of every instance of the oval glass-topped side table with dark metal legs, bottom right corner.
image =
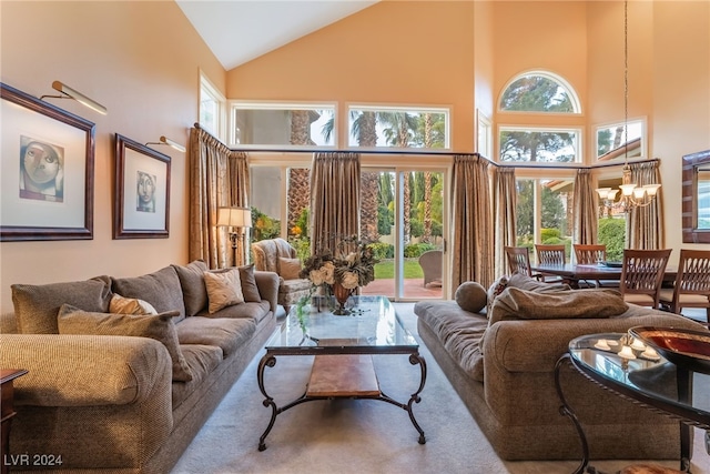
<svg viewBox="0 0 710 474">
<path fill-rule="evenodd" d="M 628 334 L 622 333 L 580 336 L 570 341 L 568 353 L 557 361 L 555 385 L 562 404 L 560 413 L 572 421 L 582 445 L 582 461 L 575 474 L 586 472 L 589 448 L 581 423 L 561 390 L 560 367 L 567 362 L 620 397 L 679 420 L 680 470 L 683 472 L 690 468 L 692 426 L 710 430 L 708 399 L 692 396 L 693 381 L 710 383 L 710 375 L 672 364 L 638 341 L 639 345 L 631 349 L 630 342 Z"/>
</svg>

